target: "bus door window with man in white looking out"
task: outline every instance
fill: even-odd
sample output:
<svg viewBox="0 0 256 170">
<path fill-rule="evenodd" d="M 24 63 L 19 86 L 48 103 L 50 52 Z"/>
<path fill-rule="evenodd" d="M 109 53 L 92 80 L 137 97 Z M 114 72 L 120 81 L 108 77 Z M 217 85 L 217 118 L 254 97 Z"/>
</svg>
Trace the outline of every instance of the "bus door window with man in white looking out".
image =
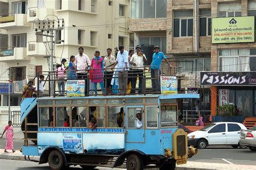
<svg viewBox="0 0 256 170">
<path fill-rule="evenodd" d="M 142 108 L 130 107 L 127 109 L 128 128 L 142 128 Z"/>
</svg>

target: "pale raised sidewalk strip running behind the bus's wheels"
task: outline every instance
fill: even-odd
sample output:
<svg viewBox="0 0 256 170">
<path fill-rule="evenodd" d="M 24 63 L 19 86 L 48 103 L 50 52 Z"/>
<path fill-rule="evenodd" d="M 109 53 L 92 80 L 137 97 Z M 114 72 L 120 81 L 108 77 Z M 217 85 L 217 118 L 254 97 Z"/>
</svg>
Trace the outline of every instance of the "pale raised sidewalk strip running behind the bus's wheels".
<svg viewBox="0 0 256 170">
<path fill-rule="evenodd" d="M 21 152 L 16 151 L 15 153 L 5 153 L 4 149 L 0 149 L 0 162 L 1 159 L 9 160 L 24 160 L 24 155 Z M 28 157 L 26 157 L 28 159 Z M 39 160 L 39 157 L 30 157 L 31 160 Z M 125 168 L 125 165 L 120 166 L 120 168 Z M 157 170 L 158 168 L 151 168 L 151 170 Z M 176 169 L 179 170 L 203 170 L 203 169 L 256 169 L 256 166 L 252 165 L 231 165 L 231 164 L 217 164 L 209 162 L 192 162 L 187 161 L 187 164 L 177 165 Z"/>
</svg>

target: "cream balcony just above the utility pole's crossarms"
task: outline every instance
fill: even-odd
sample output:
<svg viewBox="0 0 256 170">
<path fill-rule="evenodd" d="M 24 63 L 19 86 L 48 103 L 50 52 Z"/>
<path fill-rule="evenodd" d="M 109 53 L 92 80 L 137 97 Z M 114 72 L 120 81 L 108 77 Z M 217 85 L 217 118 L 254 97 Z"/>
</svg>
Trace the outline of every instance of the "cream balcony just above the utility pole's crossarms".
<svg viewBox="0 0 256 170">
<path fill-rule="evenodd" d="M 51 15 L 54 14 L 54 9 L 37 8 L 37 6 L 35 6 L 29 8 L 28 13 L 28 22 L 34 22 L 35 19 L 44 20 L 46 16 L 48 19 L 53 19 L 53 16 Z"/>
</svg>

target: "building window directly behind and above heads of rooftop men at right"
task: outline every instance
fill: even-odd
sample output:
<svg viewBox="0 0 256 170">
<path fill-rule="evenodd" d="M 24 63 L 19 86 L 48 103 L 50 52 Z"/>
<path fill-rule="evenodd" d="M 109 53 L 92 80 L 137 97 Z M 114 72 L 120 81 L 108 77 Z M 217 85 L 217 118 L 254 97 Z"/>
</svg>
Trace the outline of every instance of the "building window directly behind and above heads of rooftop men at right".
<svg viewBox="0 0 256 170">
<path fill-rule="evenodd" d="M 139 37 L 139 44 L 157 45 L 161 52 L 166 53 L 166 37 Z"/>
</svg>

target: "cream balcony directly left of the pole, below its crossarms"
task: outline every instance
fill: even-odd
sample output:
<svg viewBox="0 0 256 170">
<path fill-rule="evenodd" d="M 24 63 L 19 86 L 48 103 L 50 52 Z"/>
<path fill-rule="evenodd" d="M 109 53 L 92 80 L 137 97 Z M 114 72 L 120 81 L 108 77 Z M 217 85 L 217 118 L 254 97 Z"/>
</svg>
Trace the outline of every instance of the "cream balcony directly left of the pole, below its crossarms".
<svg viewBox="0 0 256 170">
<path fill-rule="evenodd" d="M 36 41 L 28 42 L 28 48 L 26 54 L 31 57 L 42 57 L 46 56 L 46 47 L 44 43 L 38 43 Z"/>
</svg>

